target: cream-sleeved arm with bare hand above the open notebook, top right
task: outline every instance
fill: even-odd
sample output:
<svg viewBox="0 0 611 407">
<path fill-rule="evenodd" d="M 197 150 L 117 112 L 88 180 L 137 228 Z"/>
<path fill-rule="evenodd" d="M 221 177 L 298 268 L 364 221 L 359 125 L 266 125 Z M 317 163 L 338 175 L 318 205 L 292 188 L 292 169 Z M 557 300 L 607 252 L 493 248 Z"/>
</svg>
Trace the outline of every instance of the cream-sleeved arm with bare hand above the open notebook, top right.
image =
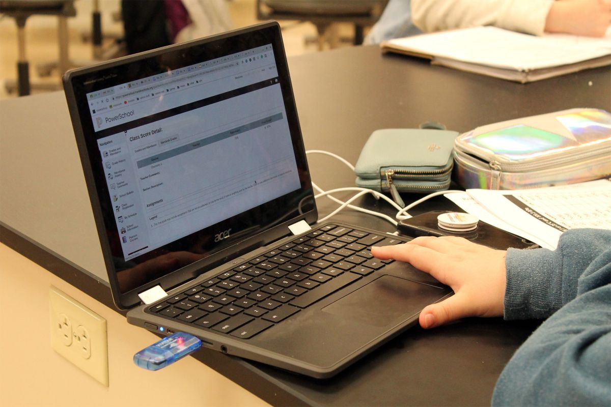
<svg viewBox="0 0 611 407">
<path fill-rule="evenodd" d="M 496 26 L 533 35 L 604 37 L 611 0 L 412 0 L 411 18 L 424 32 Z"/>
</svg>

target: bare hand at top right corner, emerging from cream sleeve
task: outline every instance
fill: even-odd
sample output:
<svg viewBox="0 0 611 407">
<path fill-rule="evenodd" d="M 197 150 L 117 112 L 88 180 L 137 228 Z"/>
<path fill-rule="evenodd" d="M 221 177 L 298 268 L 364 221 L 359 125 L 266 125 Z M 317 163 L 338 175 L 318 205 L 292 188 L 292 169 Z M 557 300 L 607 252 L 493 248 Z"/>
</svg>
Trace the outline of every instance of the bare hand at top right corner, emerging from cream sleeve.
<svg viewBox="0 0 611 407">
<path fill-rule="evenodd" d="M 604 37 L 611 25 L 611 0 L 558 0 L 547 13 L 545 32 Z"/>
</svg>

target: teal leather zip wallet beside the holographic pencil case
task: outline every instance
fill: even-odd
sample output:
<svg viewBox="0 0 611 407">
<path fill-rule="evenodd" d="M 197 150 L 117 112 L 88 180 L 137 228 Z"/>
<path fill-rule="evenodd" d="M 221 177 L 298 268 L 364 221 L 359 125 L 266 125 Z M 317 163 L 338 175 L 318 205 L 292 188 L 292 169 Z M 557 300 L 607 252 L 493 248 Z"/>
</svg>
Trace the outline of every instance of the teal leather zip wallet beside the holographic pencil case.
<svg viewBox="0 0 611 407">
<path fill-rule="evenodd" d="M 448 189 L 456 136 L 458 132 L 438 129 L 376 130 L 360 151 L 356 185 L 390 192 L 401 207 L 400 192 Z"/>
</svg>

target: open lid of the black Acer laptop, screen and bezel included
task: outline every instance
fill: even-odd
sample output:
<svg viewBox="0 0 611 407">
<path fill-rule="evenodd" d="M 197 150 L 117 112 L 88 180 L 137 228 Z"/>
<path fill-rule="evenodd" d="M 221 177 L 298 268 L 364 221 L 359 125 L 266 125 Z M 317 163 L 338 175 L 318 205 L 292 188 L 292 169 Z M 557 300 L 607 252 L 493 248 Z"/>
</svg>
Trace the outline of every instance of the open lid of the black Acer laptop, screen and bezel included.
<svg viewBox="0 0 611 407">
<path fill-rule="evenodd" d="M 119 308 L 318 217 L 277 23 L 68 71 Z"/>
</svg>

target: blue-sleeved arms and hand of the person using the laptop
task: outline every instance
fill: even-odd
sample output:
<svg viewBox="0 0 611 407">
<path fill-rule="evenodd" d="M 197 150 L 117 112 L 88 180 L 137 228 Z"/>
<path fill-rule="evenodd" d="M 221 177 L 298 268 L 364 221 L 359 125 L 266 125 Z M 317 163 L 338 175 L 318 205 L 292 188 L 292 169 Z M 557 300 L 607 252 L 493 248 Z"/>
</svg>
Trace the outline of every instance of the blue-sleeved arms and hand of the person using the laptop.
<svg viewBox="0 0 611 407">
<path fill-rule="evenodd" d="M 371 253 L 452 287 L 420 313 L 423 328 L 471 316 L 545 319 L 503 369 L 492 405 L 611 405 L 611 231 L 566 231 L 555 251 L 417 237 Z"/>
</svg>

